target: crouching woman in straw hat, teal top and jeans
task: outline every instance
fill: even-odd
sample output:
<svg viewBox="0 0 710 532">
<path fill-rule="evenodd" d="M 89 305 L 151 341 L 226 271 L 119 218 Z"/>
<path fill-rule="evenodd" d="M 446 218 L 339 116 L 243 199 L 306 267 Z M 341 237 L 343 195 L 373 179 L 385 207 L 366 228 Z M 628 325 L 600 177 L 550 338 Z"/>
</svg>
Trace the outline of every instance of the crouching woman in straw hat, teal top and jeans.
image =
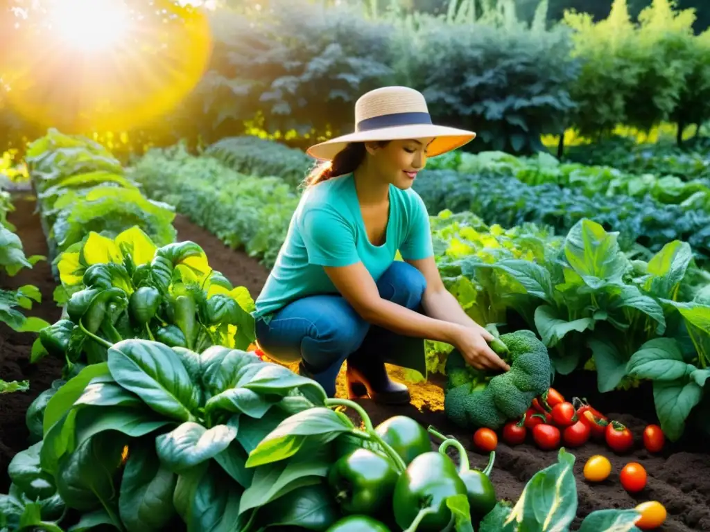
<svg viewBox="0 0 710 532">
<path fill-rule="evenodd" d="M 424 339 L 454 345 L 478 368 L 510 369 L 445 289 L 429 215 L 412 189 L 427 157 L 476 133 L 432 123 L 419 92 L 384 87 L 355 104 L 355 132 L 313 145 L 319 160 L 256 300 L 256 340 L 334 397 L 344 361 L 349 398 L 410 401 L 385 363 L 426 375 Z M 399 250 L 404 262 L 395 260 Z"/>
</svg>

